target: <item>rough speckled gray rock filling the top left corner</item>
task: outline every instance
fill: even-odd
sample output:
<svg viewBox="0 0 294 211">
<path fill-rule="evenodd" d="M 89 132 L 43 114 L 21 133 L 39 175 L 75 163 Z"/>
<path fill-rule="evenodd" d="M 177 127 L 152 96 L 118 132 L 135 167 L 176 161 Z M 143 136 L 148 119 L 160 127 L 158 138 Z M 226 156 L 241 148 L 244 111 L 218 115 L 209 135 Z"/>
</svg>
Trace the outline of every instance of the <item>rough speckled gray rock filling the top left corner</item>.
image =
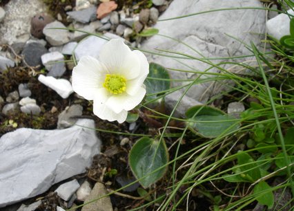
<svg viewBox="0 0 294 211">
<path fill-rule="evenodd" d="M 38 12 L 45 12 L 46 5 L 39 0 L 10 0 L 0 27 L 0 44 L 13 44 L 21 35 L 30 34 L 30 19 Z"/>
</svg>

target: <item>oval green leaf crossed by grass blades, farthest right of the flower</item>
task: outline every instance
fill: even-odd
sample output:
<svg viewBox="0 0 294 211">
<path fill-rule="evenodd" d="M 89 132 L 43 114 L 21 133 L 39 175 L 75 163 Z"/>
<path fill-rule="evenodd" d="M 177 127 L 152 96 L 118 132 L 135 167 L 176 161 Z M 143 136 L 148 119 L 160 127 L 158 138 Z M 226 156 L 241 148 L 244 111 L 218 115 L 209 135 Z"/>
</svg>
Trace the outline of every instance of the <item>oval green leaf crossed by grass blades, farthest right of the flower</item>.
<svg viewBox="0 0 294 211">
<path fill-rule="evenodd" d="M 235 124 L 235 117 L 208 106 L 191 107 L 186 111 L 186 117 L 190 121 L 197 121 L 187 122 L 189 129 L 205 138 L 215 138 L 239 127 L 239 124 Z"/>
</svg>

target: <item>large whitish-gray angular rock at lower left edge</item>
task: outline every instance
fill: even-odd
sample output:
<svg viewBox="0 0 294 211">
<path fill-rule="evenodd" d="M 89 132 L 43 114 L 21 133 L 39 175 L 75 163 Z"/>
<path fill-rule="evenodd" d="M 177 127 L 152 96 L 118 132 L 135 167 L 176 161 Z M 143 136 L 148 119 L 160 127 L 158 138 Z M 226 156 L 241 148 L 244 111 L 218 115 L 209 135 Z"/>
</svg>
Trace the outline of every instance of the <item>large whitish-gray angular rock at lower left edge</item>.
<svg viewBox="0 0 294 211">
<path fill-rule="evenodd" d="M 93 120 L 80 126 L 41 130 L 21 128 L 0 138 L 0 207 L 46 192 L 51 185 L 86 171 L 99 153 Z M 36 147 L 37 146 L 37 147 Z"/>
</svg>

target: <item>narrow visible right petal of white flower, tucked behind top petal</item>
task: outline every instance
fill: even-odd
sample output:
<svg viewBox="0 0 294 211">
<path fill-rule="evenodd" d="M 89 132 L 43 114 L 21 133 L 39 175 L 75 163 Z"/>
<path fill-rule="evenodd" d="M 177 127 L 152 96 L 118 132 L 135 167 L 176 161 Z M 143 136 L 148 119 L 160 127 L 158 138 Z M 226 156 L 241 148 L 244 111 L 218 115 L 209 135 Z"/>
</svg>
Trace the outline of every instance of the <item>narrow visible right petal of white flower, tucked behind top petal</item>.
<svg viewBox="0 0 294 211">
<path fill-rule="evenodd" d="M 141 53 L 141 51 L 133 51 L 133 53 L 136 53 L 140 59 L 140 74 L 139 77 L 133 79 L 133 80 L 129 80 L 127 81 L 126 84 L 126 92 L 129 95 L 135 95 L 135 93 L 137 92 L 137 90 L 139 89 L 139 87 L 142 86 L 142 84 L 144 83 L 144 80 L 146 79 L 148 73 L 149 73 L 149 63 L 145 57 L 145 55 L 143 53 Z"/>
</svg>

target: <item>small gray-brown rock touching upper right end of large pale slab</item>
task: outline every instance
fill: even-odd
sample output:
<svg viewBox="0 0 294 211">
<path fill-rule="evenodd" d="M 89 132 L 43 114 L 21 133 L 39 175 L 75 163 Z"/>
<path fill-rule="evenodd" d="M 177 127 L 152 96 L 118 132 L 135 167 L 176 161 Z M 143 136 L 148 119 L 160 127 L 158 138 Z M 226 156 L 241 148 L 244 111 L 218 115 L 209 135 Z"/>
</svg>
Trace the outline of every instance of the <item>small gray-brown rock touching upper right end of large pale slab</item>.
<svg viewBox="0 0 294 211">
<path fill-rule="evenodd" d="M 75 116 L 81 116 L 83 113 L 83 107 L 79 104 L 73 104 L 69 108 L 62 111 L 58 116 L 57 128 L 63 129 L 71 127 L 77 122 Z"/>
</svg>

